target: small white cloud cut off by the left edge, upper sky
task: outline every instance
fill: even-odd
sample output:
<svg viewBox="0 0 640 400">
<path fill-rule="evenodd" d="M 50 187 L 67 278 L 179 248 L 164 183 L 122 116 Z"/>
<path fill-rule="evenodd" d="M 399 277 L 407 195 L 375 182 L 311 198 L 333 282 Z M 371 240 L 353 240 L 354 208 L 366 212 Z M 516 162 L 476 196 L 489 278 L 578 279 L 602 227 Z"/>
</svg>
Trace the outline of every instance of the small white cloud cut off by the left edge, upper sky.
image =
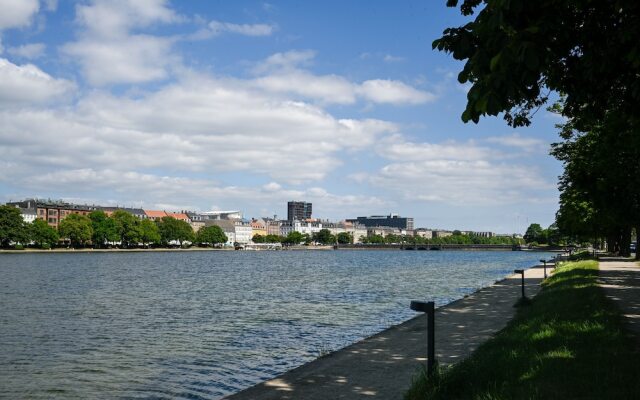
<svg viewBox="0 0 640 400">
<path fill-rule="evenodd" d="M 55 79 L 35 65 L 20 66 L 0 58 L 0 104 L 3 107 L 50 102 L 73 89 L 73 83 Z"/>
</svg>

